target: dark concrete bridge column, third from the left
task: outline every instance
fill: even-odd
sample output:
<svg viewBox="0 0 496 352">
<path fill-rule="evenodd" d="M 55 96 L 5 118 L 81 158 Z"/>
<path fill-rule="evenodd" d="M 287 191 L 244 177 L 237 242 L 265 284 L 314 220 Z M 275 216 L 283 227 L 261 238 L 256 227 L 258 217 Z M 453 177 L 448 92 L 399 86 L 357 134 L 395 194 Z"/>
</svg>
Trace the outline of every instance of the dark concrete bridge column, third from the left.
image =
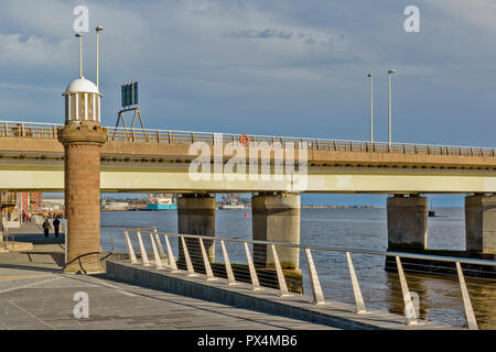
<svg viewBox="0 0 496 352">
<path fill-rule="evenodd" d="M 428 243 L 428 199 L 395 195 L 387 200 L 388 250 L 424 250 Z"/>
</svg>

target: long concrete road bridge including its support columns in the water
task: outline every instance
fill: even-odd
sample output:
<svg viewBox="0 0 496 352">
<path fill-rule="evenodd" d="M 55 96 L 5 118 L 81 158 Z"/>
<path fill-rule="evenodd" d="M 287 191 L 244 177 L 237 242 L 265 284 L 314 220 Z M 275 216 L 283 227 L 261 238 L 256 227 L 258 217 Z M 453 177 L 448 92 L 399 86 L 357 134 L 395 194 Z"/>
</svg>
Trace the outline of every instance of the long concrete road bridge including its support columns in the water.
<svg viewBox="0 0 496 352">
<path fill-rule="evenodd" d="M 73 150 L 61 143 L 64 125 L 0 121 L 0 189 L 63 191 L 67 177 L 72 179 L 66 174 L 67 163 L 76 170 L 94 163 L 79 178 L 91 186 L 75 186 L 75 191 L 93 189 L 99 177 L 95 197 L 98 191 L 182 194 L 180 232 L 203 235 L 215 235 L 215 197 L 211 195 L 250 193 L 255 194 L 254 239 L 291 243 L 300 240 L 301 193 L 390 194 L 391 250 L 427 248 L 428 199 L 422 194 L 468 194 L 466 251 L 473 256 L 496 254 L 493 147 L 95 125 L 101 136 L 91 143 L 101 145 L 99 154 L 78 151 L 80 142 L 71 134 L 76 129 L 66 129 L 69 134 L 65 139 L 74 143 L 74 153 L 80 153 L 71 162 L 66 153 Z M 67 197 L 80 200 L 66 191 L 66 202 Z M 99 210 L 96 204 L 88 209 Z M 267 257 L 267 253 L 256 254 Z M 281 261 L 289 267 L 299 266 L 298 256 L 291 253 Z"/>
</svg>

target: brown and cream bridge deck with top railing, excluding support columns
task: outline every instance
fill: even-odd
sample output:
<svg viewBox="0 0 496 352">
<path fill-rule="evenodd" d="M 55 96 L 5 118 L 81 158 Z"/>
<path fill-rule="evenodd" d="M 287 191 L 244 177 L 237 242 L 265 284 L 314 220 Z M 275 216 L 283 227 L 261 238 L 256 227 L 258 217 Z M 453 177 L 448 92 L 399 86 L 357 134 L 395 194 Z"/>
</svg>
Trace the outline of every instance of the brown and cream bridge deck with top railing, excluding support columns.
<svg viewBox="0 0 496 352">
<path fill-rule="evenodd" d="M 56 140 L 56 128 L 0 122 L 0 189 L 63 190 L 64 148 Z M 101 147 L 100 188 L 130 193 L 496 193 L 494 148 L 251 138 L 242 146 L 237 134 L 119 129 L 114 134 L 109 128 L 109 141 Z M 204 170 L 192 173 L 192 161 L 204 155 L 191 150 L 197 141 L 209 152 L 211 164 L 219 146 L 234 141 L 247 156 L 245 172 L 227 167 L 239 155 L 224 148 L 223 173 L 214 176 L 214 167 L 206 178 Z M 251 178 L 250 155 L 257 155 L 260 163 L 269 161 L 269 179 L 261 176 L 261 166 Z M 276 161 L 285 168 L 295 162 L 298 172 L 284 168 L 283 177 L 280 169 L 276 176 Z"/>
</svg>

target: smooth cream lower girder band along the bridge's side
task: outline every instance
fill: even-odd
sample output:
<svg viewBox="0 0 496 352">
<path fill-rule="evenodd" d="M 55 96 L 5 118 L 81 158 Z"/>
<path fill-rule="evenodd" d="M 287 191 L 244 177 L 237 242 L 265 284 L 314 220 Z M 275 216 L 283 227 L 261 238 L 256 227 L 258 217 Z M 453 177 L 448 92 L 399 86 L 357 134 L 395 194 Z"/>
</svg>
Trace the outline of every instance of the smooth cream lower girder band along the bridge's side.
<svg viewBox="0 0 496 352">
<path fill-rule="evenodd" d="M 429 172 L 386 168 L 309 167 L 308 175 L 256 175 L 245 180 L 236 174 L 188 174 L 186 166 L 101 167 L 101 191 L 118 193 L 367 193 L 367 194 L 471 194 L 496 193 L 494 173 Z M 200 179 L 198 179 L 200 178 Z M 0 189 L 63 191 L 60 165 L 0 165 Z"/>
</svg>

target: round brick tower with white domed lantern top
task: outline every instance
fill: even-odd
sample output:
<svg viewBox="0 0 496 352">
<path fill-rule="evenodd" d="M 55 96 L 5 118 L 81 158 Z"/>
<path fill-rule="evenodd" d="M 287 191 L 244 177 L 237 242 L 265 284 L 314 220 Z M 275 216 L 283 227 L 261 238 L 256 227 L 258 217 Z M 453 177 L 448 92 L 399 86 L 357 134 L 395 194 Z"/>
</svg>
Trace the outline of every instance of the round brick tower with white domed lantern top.
<svg viewBox="0 0 496 352">
<path fill-rule="evenodd" d="M 65 273 L 98 273 L 100 266 L 100 147 L 107 129 L 100 127 L 100 92 L 84 77 L 63 94 L 65 125 L 57 131 L 64 144 L 64 196 L 67 219 Z"/>
</svg>

